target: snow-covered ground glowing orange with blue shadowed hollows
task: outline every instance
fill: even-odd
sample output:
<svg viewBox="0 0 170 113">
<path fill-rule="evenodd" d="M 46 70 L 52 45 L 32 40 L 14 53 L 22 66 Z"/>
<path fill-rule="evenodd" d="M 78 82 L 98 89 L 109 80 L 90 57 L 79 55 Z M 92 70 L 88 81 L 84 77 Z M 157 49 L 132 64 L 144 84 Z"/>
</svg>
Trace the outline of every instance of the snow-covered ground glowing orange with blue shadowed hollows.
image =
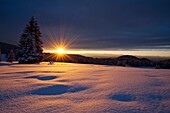
<svg viewBox="0 0 170 113">
<path fill-rule="evenodd" d="M 0 63 L 0 112 L 170 113 L 170 70 Z"/>
</svg>

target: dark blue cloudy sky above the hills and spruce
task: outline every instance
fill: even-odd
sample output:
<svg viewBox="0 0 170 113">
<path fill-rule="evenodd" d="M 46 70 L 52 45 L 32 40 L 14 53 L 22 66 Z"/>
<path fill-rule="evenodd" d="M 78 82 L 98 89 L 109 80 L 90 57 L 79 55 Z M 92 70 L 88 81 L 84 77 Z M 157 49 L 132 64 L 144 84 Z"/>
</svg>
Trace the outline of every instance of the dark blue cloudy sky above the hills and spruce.
<svg viewBox="0 0 170 113">
<path fill-rule="evenodd" d="M 34 16 L 46 51 L 61 41 L 86 53 L 170 56 L 169 6 L 170 0 L 0 0 L 0 41 L 17 44 Z"/>
</svg>

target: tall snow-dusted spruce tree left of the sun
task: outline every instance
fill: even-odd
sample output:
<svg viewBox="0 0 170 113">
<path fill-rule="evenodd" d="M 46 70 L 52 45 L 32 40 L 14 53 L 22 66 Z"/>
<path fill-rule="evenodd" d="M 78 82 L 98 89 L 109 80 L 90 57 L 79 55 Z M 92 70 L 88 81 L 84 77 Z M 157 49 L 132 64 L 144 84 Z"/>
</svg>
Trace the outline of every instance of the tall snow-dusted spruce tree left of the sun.
<svg viewBox="0 0 170 113">
<path fill-rule="evenodd" d="M 39 63 L 43 58 L 41 32 L 37 21 L 31 17 L 19 41 L 19 63 Z"/>
</svg>

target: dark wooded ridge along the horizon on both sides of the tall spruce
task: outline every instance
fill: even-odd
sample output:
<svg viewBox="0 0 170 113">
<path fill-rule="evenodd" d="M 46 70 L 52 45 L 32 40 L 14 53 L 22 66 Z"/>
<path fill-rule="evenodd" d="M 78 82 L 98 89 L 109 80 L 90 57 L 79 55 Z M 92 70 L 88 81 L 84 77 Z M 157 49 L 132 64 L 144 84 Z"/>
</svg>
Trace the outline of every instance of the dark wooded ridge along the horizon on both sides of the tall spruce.
<svg viewBox="0 0 170 113">
<path fill-rule="evenodd" d="M 8 54 L 9 51 L 12 49 L 17 56 L 16 45 L 0 42 L 0 49 L 2 54 Z M 56 53 L 44 53 L 43 61 L 170 69 L 170 59 L 152 61 L 147 58 L 138 58 L 132 55 L 122 55 L 117 58 L 93 58 L 78 54 L 64 54 L 64 57 L 60 57 L 57 56 Z"/>
</svg>

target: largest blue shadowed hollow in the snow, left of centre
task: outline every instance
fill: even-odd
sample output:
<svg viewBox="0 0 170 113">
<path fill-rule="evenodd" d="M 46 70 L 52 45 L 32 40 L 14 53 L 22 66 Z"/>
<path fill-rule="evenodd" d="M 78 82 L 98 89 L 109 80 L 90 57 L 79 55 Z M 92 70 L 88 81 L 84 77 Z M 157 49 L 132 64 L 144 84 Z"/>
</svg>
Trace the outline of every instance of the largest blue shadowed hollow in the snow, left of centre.
<svg viewBox="0 0 170 113">
<path fill-rule="evenodd" d="M 33 90 L 31 94 L 34 95 L 60 95 L 64 93 L 75 93 L 79 92 L 82 90 L 86 90 L 87 87 L 84 86 L 79 86 L 79 87 L 72 87 L 72 86 L 67 86 L 67 85 L 53 85 L 53 86 L 48 86 L 44 88 L 39 88 L 36 90 Z"/>
</svg>

